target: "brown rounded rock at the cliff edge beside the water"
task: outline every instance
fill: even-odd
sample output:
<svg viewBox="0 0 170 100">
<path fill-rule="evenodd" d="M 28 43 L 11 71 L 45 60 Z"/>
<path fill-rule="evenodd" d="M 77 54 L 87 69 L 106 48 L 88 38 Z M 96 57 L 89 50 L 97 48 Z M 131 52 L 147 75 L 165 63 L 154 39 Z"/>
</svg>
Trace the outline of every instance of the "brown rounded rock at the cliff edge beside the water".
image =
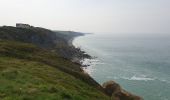
<svg viewBox="0 0 170 100">
<path fill-rule="evenodd" d="M 123 90 L 120 85 L 114 81 L 105 82 L 103 88 L 106 94 L 111 97 L 111 100 L 143 100 L 141 97 Z"/>
</svg>

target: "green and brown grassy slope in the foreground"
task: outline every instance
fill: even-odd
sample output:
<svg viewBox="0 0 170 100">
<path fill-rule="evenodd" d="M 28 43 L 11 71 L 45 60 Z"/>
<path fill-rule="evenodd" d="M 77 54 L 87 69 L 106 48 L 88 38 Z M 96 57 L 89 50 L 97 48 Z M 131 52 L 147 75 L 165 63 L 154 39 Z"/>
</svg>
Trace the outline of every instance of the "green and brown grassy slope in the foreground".
<svg viewBox="0 0 170 100">
<path fill-rule="evenodd" d="M 0 100 L 109 100 L 91 82 L 79 65 L 56 53 L 0 41 Z"/>
</svg>

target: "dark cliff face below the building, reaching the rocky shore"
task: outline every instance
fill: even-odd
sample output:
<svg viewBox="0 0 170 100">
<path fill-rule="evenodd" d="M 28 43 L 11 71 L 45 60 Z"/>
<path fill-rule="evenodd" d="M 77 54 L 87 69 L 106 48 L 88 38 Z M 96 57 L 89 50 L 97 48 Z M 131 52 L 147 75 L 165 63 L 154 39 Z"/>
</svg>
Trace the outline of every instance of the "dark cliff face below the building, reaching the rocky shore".
<svg viewBox="0 0 170 100">
<path fill-rule="evenodd" d="M 70 45 L 72 39 L 82 33 L 71 31 L 51 31 L 39 27 L 0 27 L 0 39 L 32 43 L 38 47 L 51 49 L 67 59 L 90 57 L 79 48 Z"/>
</svg>

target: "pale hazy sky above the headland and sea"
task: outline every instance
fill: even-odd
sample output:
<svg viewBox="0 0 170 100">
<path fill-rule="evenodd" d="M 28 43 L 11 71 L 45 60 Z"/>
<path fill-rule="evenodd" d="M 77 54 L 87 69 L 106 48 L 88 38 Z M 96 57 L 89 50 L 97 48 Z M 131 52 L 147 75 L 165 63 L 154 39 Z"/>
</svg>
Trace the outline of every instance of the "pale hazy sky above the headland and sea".
<svg viewBox="0 0 170 100">
<path fill-rule="evenodd" d="M 93 33 L 170 33 L 170 0 L 0 0 L 0 25 Z"/>
</svg>

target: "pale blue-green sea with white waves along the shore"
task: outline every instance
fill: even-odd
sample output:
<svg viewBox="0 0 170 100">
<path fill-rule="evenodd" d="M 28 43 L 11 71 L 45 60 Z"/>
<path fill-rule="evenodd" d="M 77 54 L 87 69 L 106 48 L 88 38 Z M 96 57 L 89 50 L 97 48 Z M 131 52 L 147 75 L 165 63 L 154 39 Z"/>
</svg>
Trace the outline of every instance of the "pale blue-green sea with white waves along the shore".
<svg viewBox="0 0 170 100">
<path fill-rule="evenodd" d="M 170 36 L 91 34 L 73 44 L 97 57 L 84 63 L 100 84 L 115 80 L 144 100 L 170 100 Z"/>
</svg>

